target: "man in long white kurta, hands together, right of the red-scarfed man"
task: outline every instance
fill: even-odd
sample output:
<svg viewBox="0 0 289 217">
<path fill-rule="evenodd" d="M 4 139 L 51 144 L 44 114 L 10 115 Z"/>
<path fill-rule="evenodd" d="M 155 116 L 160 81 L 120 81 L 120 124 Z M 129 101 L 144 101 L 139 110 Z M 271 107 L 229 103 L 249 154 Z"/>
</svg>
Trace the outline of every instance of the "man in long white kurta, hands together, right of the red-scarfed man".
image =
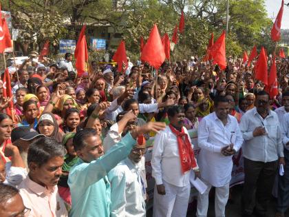
<svg viewBox="0 0 289 217">
<path fill-rule="evenodd" d="M 242 147 L 243 138 L 237 119 L 229 115 L 228 99 L 215 99 L 215 112 L 205 116 L 197 128 L 197 143 L 201 148 L 198 163 L 202 179 L 208 186 L 197 197 L 197 217 L 208 211 L 208 193 L 215 187 L 215 216 L 224 217 L 233 168 L 232 156 Z"/>
</svg>

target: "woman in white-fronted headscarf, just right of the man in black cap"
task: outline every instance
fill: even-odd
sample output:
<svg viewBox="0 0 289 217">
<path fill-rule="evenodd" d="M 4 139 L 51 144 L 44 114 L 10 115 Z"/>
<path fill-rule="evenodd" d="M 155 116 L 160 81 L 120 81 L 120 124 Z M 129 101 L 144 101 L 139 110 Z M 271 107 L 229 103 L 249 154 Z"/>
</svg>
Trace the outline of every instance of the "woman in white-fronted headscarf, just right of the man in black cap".
<svg viewBox="0 0 289 217">
<path fill-rule="evenodd" d="M 36 130 L 39 134 L 55 138 L 58 142 L 61 142 L 63 139 L 64 133 L 59 129 L 56 118 L 51 112 L 43 112 L 43 114 L 41 114 Z"/>
</svg>

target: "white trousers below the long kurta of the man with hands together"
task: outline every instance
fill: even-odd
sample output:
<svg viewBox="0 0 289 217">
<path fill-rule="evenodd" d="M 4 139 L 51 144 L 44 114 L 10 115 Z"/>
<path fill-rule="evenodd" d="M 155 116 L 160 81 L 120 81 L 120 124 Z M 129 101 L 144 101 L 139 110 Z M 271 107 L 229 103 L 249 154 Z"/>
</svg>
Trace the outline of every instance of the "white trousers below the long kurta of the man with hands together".
<svg viewBox="0 0 289 217">
<path fill-rule="evenodd" d="M 203 182 L 208 186 L 206 192 L 204 194 L 199 194 L 197 196 L 197 217 L 206 217 L 208 213 L 208 193 L 212 185 L 209 183 Z M 215 187 L 215 216 L 216 217 L 225 217 L 225 208 L 226 203 L 228 202 L 229 196 L 229 187 L 230 183 L 222 186 L 222 187 Z"/>
</svg>

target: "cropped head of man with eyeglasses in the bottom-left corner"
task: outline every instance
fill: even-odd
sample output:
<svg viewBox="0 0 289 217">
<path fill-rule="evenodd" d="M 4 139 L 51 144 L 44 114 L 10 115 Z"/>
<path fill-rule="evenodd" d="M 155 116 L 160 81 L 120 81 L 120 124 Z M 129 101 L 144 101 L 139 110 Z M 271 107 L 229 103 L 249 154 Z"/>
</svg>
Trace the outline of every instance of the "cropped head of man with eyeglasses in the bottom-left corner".
<svg viewBox="0 0 289 217">
<path fill-rule="evenodd" d="M 30 209 L 26 208 L 19 194 L 19 190 L 11 185 L 0 183 L 0 216 L 24 217 Z"/>
</svg>

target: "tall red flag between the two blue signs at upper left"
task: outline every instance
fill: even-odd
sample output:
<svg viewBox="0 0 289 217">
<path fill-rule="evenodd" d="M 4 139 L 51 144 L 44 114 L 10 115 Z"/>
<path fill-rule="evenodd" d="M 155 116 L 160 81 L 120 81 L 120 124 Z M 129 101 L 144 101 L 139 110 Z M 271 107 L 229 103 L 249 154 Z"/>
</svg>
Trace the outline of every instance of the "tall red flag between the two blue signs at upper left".
<svg viewBox="0 0 289 217">
<path fill-rule="evenodd" d="M 87 71 L 87 61 L 88 61 L 88 54 L 87 54 L 87 44 L 85 35 L 83 35 L 82 39 L 78 39 L 80 41 L 77 48 L 77 55 L 75 56 L 76 63 L 75 68 L 77 70 L 78 76 L 81 76 L 85 71 Z M 75 53 L 74 53 L 75 55 Z"/>
</svg>

